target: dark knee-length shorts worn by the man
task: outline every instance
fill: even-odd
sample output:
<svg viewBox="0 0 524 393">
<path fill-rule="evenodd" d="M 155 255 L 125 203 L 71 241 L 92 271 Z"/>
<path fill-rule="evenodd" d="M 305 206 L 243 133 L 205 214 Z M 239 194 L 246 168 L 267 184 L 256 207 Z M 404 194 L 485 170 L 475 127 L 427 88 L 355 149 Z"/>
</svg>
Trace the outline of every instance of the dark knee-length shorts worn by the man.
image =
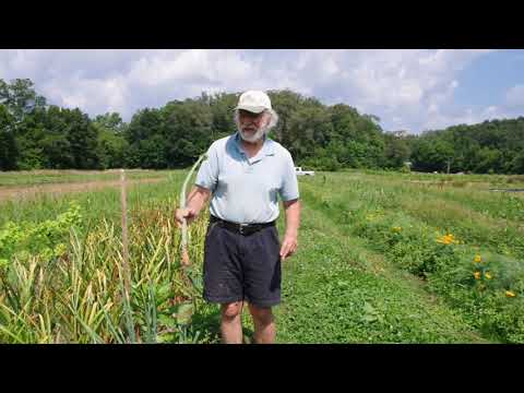
<svg viewBox="0 0 524 393">
<path fill-rule="evenodd" d="M 281 245 L 275 226 L 243 236 L 210 224 L 204 249 L 204 299 L 258 307 L 281 302 Z"/>
</svg>

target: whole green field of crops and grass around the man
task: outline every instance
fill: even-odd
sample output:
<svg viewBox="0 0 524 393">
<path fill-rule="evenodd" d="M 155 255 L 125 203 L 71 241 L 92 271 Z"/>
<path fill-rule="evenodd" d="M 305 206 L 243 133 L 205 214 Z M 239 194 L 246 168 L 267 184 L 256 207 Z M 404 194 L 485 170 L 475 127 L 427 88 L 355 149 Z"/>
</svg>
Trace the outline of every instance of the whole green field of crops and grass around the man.
<svg viewBox="0 0 524 393">
<path fill-rule="evenodd" d="M 118 188 L 0 202 L 0 342 L 217 343 L 218 308 L 201 298 L 205 215 L 190 228 L 192 269 L 180 266 L 172 215 L 184 175 L 141 171 L 159 181 L 129 186 L 129 301 Z M 524 199 L 493 188 L 524 188 L 524 177 L 301 177 L 277 341 L 523 343 Z"/>
</svg>

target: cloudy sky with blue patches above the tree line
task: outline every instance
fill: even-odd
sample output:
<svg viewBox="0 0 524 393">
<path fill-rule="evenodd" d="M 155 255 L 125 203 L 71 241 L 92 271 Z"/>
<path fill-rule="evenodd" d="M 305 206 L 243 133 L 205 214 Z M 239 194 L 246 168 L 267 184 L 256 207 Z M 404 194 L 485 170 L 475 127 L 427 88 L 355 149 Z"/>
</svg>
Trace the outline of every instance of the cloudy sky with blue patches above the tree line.
<svg viewBox="0 0 524 393">
<path fill-rule="evenodd" d="M 126 121 L 203 91 L 251 88 L 344 103 L 388 131 L 524 116 L 524 50 L 0 49 L 0 79 L 15 78 L 31 79 L 50 104 Z"/>
</svg>

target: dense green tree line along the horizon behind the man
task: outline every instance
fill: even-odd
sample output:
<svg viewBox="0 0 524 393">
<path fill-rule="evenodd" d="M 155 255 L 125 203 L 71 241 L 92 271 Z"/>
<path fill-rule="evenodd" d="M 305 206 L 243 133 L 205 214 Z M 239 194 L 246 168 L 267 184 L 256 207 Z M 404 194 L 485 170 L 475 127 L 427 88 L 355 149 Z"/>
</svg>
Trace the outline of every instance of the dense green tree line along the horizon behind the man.
<svg viewBox="0 0 524 393">
<path fill-rule="evenodd" d="M 0 80 L 0 169 L 186 168 L 236 130 L 239 93 L 171 100 L 90 118 L 48 105 L 28 79 Z M 324 105 L 289 90 L 270 91 L 279 115 L 271 138 L 297 165 L 317 170 L 386 168 L 420 171 L 524 172 L 524 118 L 454 126 L 420 135 L 384 132 L 380 119 L 345 104 Z"/>
</svg>

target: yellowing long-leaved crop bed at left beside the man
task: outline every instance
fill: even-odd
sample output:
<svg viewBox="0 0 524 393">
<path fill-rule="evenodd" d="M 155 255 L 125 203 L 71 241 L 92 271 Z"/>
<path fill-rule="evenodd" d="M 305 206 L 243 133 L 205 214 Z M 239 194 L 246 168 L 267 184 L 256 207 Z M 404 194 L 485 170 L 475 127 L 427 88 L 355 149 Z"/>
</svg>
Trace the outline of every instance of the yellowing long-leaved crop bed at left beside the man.
<svg viewBox="0 0 524 393">
<path fill-rule="evenodd" d="M 187 228 L 187 255 L 193 262 L 188 285 L 177 202 L 145 203 L 128 212 L 128 252 L 118 224 L 102 219 L 85 228 L 76 205 L 36 227 L 0 228 L 5 252 L 0 254 L 0 342 L 205 342 L 183 305 L 191 299 L 191 314 L 203 305 L 196 262 L 207 222 L 203 214 Z M 28 247 L 24 234 L 29 233 L 32 241 L 41 237 L 40 243 Z"/>
</svg>

